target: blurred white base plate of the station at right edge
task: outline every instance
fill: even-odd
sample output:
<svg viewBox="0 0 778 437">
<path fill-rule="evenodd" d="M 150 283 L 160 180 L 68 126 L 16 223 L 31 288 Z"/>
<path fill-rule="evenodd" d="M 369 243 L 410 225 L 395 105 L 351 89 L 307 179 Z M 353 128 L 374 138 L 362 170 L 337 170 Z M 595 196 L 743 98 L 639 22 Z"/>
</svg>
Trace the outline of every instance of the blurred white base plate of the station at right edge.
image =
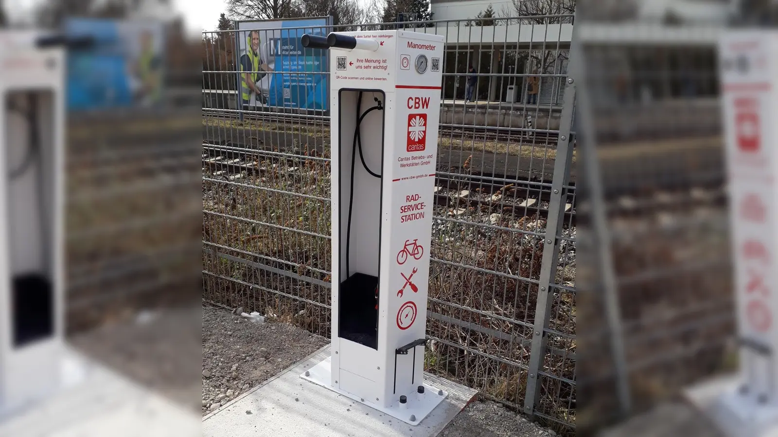
<svg viewBox="0 0 778 437">
<path fill-rule="evenodd" d="M 684 396 L 731 437 L 778 437 L 778 407 L 738 399 L 738 376 L 710 379 L 684 390 Z"/>
</svg>

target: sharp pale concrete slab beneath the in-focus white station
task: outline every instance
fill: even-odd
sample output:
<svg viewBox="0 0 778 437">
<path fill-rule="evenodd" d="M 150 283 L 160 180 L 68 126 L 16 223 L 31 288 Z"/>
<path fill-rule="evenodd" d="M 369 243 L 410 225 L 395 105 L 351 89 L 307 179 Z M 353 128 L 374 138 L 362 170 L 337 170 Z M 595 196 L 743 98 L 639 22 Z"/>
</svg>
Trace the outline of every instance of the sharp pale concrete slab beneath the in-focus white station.
<svg viewBox="0 0 778 437">
<path fill-rule="evenodd" d="M 329 356 L 330 347 L 321 348 L 314 355 L 205 416 L 202 435 L 433 437 L 475 400 L 477 394 L 476 390 L 425 373 L 426 385 L 440 387 L 448 396 L 419 425 L 408 425 L 300 378 L 300 374 Z"/>
</svg>

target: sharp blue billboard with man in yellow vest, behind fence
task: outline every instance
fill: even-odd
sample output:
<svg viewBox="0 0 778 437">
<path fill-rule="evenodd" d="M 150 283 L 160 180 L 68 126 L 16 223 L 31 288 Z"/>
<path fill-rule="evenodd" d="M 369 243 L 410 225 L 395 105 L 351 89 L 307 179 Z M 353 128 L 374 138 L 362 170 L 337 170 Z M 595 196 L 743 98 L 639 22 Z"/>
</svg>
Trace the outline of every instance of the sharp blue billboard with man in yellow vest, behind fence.
<svg viewBox="0 0 778 437">
<path fill-rule="evenodd" d="M 244 109 L 328 109 L 328 51 L 306 49 L 305 33 L 329 33 L 331 17 L 239 21 L 236 29 L 238 100 Z"/>
</svg>

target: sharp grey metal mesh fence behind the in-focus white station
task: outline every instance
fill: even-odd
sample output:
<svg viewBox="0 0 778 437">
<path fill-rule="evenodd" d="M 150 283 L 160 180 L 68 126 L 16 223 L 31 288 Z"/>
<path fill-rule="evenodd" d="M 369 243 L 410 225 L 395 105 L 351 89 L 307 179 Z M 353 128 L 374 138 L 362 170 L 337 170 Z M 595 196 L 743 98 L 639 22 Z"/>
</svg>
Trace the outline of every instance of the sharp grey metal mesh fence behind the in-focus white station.
<svg viewBox="0 0 778 437">
<path fill-rule="evenodd" d="M 404 28 L 447 38 L 426 370 L 565 432 L 576 423 L 572 18 L 319 30 Z M 260 40 L 283 47 L 276 31 L 261 30 Z M 299 38 L 312 29 L 284 31 Z M 279 104 L 296 92 L 285 87 L 244 107 L 235 54 L 247 37 L 203 34 L 203 298 L 328 337 L 329 114 Z M 258 74 L 288 83 L 280 65 L 300 55 L 265 53 Z M 292 76 L 313 83 L 328 72 Z"/>
</svg>

